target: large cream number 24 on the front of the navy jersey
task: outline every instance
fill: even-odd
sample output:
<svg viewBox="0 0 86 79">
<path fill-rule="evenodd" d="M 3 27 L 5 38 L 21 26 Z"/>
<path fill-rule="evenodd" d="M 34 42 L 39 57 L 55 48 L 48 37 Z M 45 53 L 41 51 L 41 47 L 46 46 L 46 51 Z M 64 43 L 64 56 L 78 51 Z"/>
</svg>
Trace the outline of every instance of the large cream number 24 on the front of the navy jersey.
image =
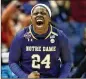
<svg viewBox="0 0 86 79">
<path fill-rule="evenodd" d="M 43 64 L 45 64 L 45 68 L 50 68 L 50 54 L 47 54 L 42 61 L 40 60 L 40 55 L 32 55 L 32 68 L 40 69 L 40 65 Z"/>
</svg>

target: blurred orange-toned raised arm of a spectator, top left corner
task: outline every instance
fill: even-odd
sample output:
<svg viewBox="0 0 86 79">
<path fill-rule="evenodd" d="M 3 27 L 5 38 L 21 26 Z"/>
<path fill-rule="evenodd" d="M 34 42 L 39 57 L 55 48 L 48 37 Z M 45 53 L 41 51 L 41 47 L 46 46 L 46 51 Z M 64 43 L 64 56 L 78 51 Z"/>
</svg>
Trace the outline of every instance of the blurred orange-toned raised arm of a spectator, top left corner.
<svg viewBox="0 0 86 79">
<path fill-rule="evenodd" d="M 2 13 L 2 23 L 6 23 L 11 19 L 11 16 L 17 11 L 17 5 L 17 1 L 12 1 L 7 5 L 6 9 L 4 9 Z"/>
</svg>

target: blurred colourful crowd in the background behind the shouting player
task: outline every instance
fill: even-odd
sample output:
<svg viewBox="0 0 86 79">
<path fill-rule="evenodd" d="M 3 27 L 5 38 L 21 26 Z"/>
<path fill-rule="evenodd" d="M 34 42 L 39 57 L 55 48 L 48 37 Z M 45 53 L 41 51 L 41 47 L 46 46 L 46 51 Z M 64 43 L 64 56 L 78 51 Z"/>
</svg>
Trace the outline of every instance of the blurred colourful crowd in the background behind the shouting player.
<svg viewBox="0 0 86 79">
<path fill-rule="evenodd" d="M 16 33 L 31 24 L 30 12 L 37 3 L 48 5 L 52 11 L 51 24 L 69 38 L 74 72 L 86 55 L 85 0 L 2 0 L 1 2 L 1 75 L 16 78 L 8 66 L 9 48 Z M 85 72 L 84 72 L 85 73 Z M 81 77 L 86 78 L 86 74 Z"/>
</svg>

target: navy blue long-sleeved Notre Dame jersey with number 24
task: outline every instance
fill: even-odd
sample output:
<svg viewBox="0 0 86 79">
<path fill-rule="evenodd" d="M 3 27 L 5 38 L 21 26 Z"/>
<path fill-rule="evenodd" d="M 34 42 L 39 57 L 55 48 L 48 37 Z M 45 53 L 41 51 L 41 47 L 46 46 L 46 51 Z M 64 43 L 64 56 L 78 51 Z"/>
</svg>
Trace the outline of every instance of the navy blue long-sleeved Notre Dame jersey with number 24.
<svg viewBox="0 0 86 79">
<path fill-rule="evenodd" d="M 9 56 L 12 71 L 19 77 L 23 76 L 16 69 L 22 75 L 38 71 L 41 78 L 65 77 L 63 73 L 68 74 L 71 68 L 67 37 L 52 26 L 44 35 L 37 35 L 31 29 L 32 26 L 23 29 L 12 42 Z M 15 64 L 18 68 L 14 69 Z"/>
</svg>

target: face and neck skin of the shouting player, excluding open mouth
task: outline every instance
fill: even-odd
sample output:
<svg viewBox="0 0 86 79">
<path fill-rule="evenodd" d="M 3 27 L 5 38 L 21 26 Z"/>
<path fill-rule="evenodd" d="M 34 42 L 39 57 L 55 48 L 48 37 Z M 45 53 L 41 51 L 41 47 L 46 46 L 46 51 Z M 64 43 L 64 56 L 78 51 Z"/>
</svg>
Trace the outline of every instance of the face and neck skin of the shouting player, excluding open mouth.
<svg viewBox="0 0 86 79">
<path fill-rule="evenodd" d="M 38 25 L 36 23 L 37 18 L 43 21 L 42 25 Z M 36 6 L 32 12 L 31 21 L 32 21 L 34 32 L 41 35 L 41 34 L 45 34 L 48 31 L 48 27 L 51 19 L 46 8 L 42 6 Z"/>
</svg>

